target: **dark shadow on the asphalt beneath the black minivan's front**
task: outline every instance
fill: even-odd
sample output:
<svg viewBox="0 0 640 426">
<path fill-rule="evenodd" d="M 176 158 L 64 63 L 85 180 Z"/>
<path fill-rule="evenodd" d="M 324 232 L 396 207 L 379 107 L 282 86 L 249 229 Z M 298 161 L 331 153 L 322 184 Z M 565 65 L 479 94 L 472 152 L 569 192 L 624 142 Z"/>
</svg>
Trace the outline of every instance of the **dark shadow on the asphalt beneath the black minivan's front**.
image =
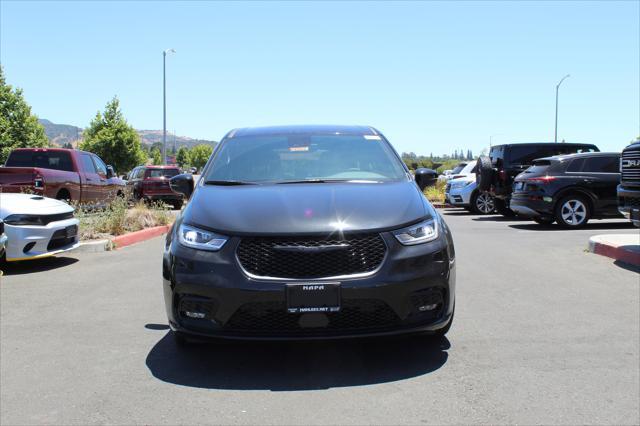
<svg viewBox="0 0 640 426">
<path fill-rule="evenodd" d="M 410 336 L 306 342 L 200 343 L 178 347 L 171 332 L 149 352 L 154 377 L 182 386 L 315 390 L 393 382 L 447 362 L 446 338 Z"/>
</svg>

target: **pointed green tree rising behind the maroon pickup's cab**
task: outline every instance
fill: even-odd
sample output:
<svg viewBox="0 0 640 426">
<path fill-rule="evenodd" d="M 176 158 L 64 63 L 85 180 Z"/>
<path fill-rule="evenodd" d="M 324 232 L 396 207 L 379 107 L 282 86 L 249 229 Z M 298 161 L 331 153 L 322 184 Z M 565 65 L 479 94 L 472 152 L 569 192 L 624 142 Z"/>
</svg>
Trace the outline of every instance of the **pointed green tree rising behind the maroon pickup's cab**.
<svg viewBox="0 0 640 426">
<path fill-rule="evenodd" d="M 98 154 L 119 172 L 129 171 L 146 161 L 140 136 L 125 120 L 116 96 L 107 103 L 104 113 L 96 113 L 84 131 L 80 149 Z"/>
</svg>

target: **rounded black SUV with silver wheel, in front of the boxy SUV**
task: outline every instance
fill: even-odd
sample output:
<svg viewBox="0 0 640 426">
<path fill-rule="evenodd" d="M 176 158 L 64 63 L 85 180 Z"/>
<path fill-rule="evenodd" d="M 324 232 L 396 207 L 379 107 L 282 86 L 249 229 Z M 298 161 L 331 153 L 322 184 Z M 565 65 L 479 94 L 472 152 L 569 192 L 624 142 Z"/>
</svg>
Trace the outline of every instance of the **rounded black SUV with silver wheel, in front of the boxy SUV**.
<svg viewBox="0 0 640 426">
<path fill-rule="evenodd" d="M 566 228 L 591 218 L 619 217 L 616 188 L 620 154 L 588 153 L 535 160 L 513 184 L 510 207 L 518 216 Z"/>
</svg>

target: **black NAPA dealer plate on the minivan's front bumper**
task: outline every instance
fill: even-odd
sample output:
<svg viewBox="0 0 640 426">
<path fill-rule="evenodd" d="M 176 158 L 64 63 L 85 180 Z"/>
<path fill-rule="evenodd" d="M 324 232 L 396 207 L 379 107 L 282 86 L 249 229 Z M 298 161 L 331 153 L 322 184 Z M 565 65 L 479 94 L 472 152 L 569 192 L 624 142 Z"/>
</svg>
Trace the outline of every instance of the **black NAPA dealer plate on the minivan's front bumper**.
<svg viewBox="0 0 640 426">
<path fill-rule="evenodd" d="M 339 312 L 342 285 L 339 282 L 299 282 L 285 285 L 287 312 Z"/>
</svg>

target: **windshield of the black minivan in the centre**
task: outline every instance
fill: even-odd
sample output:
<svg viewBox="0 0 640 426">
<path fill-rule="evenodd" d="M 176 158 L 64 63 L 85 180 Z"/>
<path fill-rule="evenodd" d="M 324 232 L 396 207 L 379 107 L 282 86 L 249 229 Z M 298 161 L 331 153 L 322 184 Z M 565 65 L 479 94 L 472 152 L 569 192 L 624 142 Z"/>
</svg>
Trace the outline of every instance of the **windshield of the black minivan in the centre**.
<svg viewBox="0 0 640 426">
<path fill-rule="evenodd" d="M 380 136 L 295 134 L 227 139 L 205 182 L 389 181 L 404 178 Z"/>
</svg>

